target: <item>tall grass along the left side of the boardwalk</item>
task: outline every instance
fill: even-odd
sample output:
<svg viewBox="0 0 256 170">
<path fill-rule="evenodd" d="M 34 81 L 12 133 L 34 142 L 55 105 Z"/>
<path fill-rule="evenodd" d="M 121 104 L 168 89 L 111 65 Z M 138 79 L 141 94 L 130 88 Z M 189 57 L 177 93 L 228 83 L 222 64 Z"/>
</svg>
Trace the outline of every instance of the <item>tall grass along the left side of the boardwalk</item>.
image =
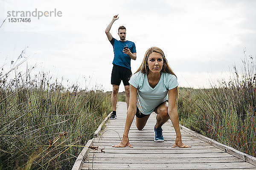
<svg viewBox="0 0 256 170">
<path fill-rule="evenodd" d="M 110 95 L 28 73 L 0 76 L 0 170 L 71 169 L 111 111 Z"/>
</svg>

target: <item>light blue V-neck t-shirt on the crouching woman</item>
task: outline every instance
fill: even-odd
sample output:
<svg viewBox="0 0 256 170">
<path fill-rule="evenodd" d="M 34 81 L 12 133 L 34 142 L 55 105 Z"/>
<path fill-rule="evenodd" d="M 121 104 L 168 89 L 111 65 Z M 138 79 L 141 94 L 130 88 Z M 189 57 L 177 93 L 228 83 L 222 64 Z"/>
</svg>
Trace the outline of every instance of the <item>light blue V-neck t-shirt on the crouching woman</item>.
<svg viewBox="0 0 256 170">
<path fill-rule="evenodd" d="M 157 85 L 151 88 L 147 74 L 140 71 L 131 76 L 129 83 L 138 89 L 137 107 L 146 115 L 151 114 L 158 105 L 168 100 L 168 90 L 179 85 L 175 75 L 162 73 Z"/>
</svg>

